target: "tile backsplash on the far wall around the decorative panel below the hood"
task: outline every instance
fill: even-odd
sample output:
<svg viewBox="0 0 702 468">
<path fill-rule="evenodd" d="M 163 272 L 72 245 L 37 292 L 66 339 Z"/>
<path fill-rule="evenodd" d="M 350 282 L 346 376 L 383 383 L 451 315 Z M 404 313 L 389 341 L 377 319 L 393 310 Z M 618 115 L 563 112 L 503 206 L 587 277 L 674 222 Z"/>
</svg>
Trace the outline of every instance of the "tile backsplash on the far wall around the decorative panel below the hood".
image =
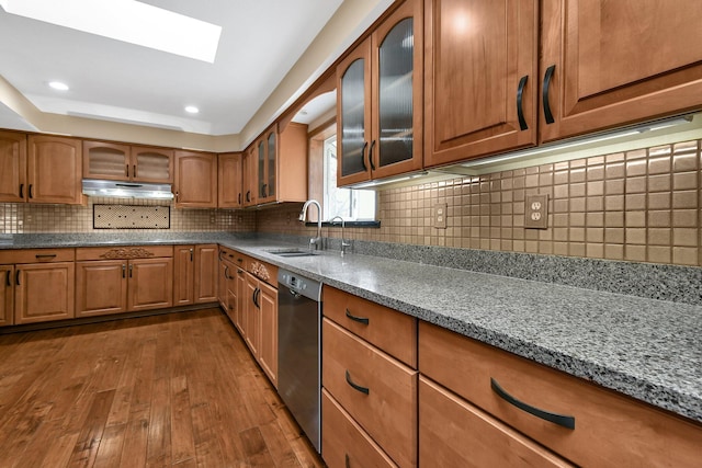
<svg viewBox="0 0 702 468">
<path fill-rule="evenodd" d="M 0 203 L 0 233 L 105 232 L 105 229 L 93 229 L 93 204 L 162 206 L 165 203 L 168 204 L 163 201 L 105 197 L 90 197 L 86 206 Z M 151 231 L 250 232 L 256 229 L 256 215 L 250 212 L 180 209 L 172 202 L 170 208 L 170 229 Z"/>
</svg>

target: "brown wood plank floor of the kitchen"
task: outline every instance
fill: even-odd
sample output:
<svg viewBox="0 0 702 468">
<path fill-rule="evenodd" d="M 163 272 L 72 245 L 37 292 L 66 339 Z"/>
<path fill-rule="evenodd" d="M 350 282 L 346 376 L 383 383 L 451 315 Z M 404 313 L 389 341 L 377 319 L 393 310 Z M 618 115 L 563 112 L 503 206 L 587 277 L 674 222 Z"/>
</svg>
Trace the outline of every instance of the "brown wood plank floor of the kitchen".
<svg viewBox="0 0 702 468">
<path fill-rule="evenodd" d="M 218 309 L 0 335 L 0 467 L 324 467 Z"/>
</svg>

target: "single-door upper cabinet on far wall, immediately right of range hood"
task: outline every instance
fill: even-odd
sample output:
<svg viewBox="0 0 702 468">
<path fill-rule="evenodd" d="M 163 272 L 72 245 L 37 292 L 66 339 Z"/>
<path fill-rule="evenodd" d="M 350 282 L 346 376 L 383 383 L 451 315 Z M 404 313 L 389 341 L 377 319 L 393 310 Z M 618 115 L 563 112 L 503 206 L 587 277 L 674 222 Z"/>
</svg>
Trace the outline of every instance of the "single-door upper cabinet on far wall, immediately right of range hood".
<svg viewBox="0 0 702 468">
<path fill-rule="evenodd" d="M 217 207 L 217 155 L 176 151 L 176 206 Z"/>
</svg>

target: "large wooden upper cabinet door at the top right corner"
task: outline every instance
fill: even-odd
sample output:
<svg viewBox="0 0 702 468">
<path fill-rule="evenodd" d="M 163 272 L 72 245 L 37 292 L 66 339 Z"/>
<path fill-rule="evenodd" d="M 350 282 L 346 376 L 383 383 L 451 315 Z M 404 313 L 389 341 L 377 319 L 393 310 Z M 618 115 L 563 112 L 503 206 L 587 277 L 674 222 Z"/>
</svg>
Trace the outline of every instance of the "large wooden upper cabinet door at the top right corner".
<svg viewBox="0 0 702 468">
<path fill-rule="evenodd" d="M 697 0 L 543 2 L 541 140 L 702 107 Z M 542 77 L 543 78 L 543 77 Z"/>
</svg>

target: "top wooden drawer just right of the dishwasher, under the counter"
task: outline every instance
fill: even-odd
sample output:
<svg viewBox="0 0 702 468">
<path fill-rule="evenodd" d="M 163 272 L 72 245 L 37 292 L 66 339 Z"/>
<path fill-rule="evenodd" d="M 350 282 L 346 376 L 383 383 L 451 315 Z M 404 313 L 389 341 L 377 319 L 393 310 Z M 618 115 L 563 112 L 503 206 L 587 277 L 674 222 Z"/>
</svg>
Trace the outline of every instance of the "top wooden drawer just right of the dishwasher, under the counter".
<svg viewBox="0 0 702 468">
<path fill-rule="evenodd" d="M 333 287 L 322 295 L 326 317 L 417 368 L 417 319 Z"/>
</svg>

